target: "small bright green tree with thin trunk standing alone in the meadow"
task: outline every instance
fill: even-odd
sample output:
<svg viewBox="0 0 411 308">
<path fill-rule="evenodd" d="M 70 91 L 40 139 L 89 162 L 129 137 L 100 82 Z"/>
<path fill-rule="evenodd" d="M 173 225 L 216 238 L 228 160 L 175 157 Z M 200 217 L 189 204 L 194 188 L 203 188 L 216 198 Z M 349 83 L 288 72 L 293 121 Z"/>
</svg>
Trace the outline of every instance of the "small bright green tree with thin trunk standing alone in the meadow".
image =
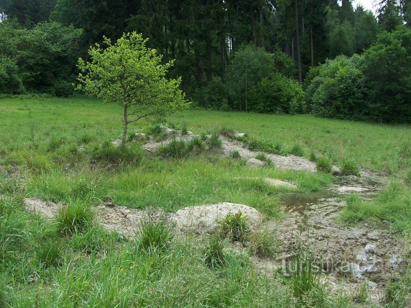
<svg viewBox="0 0 411 308">
<path fill-rule="evenodd" d="M 181 78 L 166 79 L 174 61 L 161 64 L 162 56 L 145 46 L 147 39 L 136 32 L 123 34 L 115 43 L 104 37 L 106 49 L 99 44 L 88 50 L 90 62 L 79 59 L 78 90 L 124 107 L 121 150 L 127 125 L 143 118 L 159 119 L 181 110 L 188 103 L 179 90 Z"/>
</svg>

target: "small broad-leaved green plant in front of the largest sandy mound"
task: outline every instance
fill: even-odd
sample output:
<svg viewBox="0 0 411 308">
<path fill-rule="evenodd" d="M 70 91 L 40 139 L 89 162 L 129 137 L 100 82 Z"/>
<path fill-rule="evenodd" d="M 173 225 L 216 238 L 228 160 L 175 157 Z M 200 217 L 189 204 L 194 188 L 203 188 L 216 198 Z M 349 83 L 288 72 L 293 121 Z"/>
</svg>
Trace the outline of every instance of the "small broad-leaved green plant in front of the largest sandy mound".
<svg viewBox="0 0 411 308">
<path fill-rule="evenodd" d="M 229 238 L 233 242 L 246 242 L 250 232 L 248 216 L 242 215 L 240 210 L 238 210 L 237 214 L 227 215 L 219 224 L 220 233 L 223 237 Z"/>
</svg>

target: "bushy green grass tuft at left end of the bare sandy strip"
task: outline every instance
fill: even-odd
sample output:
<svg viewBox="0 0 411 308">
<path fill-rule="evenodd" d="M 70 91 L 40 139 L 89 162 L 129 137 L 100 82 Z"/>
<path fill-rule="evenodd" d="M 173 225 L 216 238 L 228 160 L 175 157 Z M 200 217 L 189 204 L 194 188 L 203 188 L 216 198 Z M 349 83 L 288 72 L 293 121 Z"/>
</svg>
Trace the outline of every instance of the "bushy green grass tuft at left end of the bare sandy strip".
<svg viewBox="0 0 411 308">
<path fill-rule="evenodd" d="M 65 236 L 84 232 L 93 219 L 94 211 L 81 199 L 70 200 L 59 208 L 55 217 L 58 232 Z"/>
</svg>

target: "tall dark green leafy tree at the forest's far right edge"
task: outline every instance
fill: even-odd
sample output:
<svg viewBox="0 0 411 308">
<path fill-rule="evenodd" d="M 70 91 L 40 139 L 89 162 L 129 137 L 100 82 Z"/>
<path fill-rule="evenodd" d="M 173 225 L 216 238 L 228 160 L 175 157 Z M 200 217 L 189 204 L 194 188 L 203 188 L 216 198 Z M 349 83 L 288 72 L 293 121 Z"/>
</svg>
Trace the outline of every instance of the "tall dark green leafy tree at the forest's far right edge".
<svg viewBox="0 0 411 308">
<path fill-rule="evenodd" d="M 411 122 L 411 29 L 382 32 L 361 58 L 371 119 Z"/>
</svg>

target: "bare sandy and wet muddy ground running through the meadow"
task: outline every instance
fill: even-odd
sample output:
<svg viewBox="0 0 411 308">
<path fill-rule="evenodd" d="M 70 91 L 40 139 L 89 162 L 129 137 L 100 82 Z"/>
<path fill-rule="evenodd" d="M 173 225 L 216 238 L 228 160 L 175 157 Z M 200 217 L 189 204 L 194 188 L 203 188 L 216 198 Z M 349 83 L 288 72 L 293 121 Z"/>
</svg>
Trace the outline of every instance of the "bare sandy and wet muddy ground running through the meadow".
<svg viewBox="0 0 411 308">
<path fill-rule="evenodd" d="M 175 136 L 176 134 L 162 142 L 148 139 L 144 148 L 148 152 L 154 152 Z M 187 141 L 195 135 L 179 136 L 177 133 L 177 137 Z M 239 141 L 223 138 L 220 154 L 227 157 L 234 150 L 243 158 L 252 158 L 258 153 L 249 150 Z M 315 163 L 305 158 L 270 153 L 266 153 L 266 157 L 279 169 L 316 172 Z M 338 168 L 335 166 L 334 171 L 338 175 Z M 263 180 L 279 183 L 276 179 Z M 399 275 L 403 261 L 401 241 L 387 229 L 387 225 L 383 224 L 378 228 L 367 223 L 345 226 L 338 222 L 338 216 L 339 211 L 346 205 L 347 195 L 356 193 L 361 198 L 370 199 L 388 184 L 388 178 L 385 174 L 362 169 L 361 177 L 337 176 L 337 180 L 337 183 L 327 190 L 308 193 L 293 192 L 293 184 L 285 184 L 290 188 L 290 193 L 283 199 L 286 219 L 280 222 L 264 220 L 258 211 L 246 205 L 229 203 L 184 208 L 170 214 L 162 209 L 131 209 L 108 202 L 96 207 L 96 217 L 105 228 L 125 236 L 138 232 L 140 222 L 148 217 L 154 220 L 165 219 L 178 232 L 185 232 L 190 225 L 191 231 L 207 234 L 215 227 L 216 218 L 228 213 L 235 214 L 240 208 L 249 215 L 254 227 L 259 225 L 268 228 L 273 237 L 281 243 L 282 253 L 276 258 L 252 257 L 258 268 L 265 272 L 284 270 L 294 258 L 298 246 L 309 247 L 315 255 L 316 263 L 326 273 L 322 279 L 327 281 L 333 292 L 355 294 L 359 287 L 366 283 L 370 294 L 368 300 L 379 302 L 383 296 L 385 282 Z M 39 199 L 26 199 L 25 202 L 29 210 L 46 217 L 53 217 L 59 206 L 62 206 Z"/>
</svg>

